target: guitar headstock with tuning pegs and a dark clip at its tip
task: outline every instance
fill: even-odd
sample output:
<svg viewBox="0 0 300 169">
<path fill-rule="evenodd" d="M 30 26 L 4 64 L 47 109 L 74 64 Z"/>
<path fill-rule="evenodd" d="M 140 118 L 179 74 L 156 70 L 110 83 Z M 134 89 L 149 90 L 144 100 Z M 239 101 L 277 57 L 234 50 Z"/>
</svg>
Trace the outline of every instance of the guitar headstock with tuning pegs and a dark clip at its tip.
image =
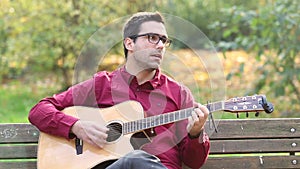
<svg viewBox="0 0 300 169">
<path fill-rule="evenodd" d="M 233 113 L 259 111 L 272 113 L 273 110 L 273 105 L 267 102 L 265 95 L 236 97 L 224 102 L 224 111 Z"/>
</svg>

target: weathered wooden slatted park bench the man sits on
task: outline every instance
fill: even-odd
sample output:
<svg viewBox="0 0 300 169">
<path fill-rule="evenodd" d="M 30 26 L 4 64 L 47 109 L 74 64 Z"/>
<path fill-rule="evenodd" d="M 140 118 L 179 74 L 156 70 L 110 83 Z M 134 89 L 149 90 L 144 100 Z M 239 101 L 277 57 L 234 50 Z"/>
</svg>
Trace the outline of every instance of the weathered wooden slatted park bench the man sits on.
<svg viewBox="0 0 300 169">
<path fill-rule="evenodd" d="M 202 168 L 300 168 L 300 118 L 216 124 L 218 133 L 210 135 L 211 153 Z M 0 169 L 36 168 L 38 137 L 30 124 L 0 124 Z"/>
</svg>

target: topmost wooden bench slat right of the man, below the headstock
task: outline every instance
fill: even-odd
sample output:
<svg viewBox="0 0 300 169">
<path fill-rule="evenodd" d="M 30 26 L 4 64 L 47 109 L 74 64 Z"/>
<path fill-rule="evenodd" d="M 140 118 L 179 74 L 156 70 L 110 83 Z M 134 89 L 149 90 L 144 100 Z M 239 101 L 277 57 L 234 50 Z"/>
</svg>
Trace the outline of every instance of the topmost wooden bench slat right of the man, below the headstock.
<svg viewBox="0 0 300 169">
<path fill-rule="evenodd" d="M 300 138 L 300 118 L 216 120 L 218 133 L 206 126 L 211 140 L 244 138 Z"/>
</svg>

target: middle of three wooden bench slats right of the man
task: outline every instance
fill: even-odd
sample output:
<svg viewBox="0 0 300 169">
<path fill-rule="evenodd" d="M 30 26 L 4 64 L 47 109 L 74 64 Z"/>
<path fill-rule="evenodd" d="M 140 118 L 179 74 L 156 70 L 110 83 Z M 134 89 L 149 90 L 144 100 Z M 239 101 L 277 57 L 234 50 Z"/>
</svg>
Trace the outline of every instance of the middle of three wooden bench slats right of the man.
<svg viewBox="0 0 300 169">
<path fill-rule="evenodd" d="M 300 152 L 300 139 L 211 140 L 210 154 Z"/>
</svg>

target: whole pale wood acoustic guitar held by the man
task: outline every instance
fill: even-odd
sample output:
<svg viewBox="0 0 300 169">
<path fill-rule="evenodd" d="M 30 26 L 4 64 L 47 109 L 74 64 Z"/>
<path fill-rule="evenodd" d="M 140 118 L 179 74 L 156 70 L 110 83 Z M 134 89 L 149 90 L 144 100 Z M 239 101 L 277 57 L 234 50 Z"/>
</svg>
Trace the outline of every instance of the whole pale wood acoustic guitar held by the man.
<svg viewBox="0 0 300 169">
<path fill-rule="evenodd" d="M 273 111 L 273 105 L 266 101 L 264 95 L 237 97 L 227 101 L 208 103 L 206 106 L 210 113 L 216 111 L 232 113 L 265 111 L 271 113 Z M 136 101 L 126 101 L 103 109 L 82 106 L 66 108 L 63 112 L 67 115 L 105 124 L 109 128 L 108 144 L 101 149 L 88 143 L 82 143 L 79 139 L 67 140 L 41 132 L 38 145 L 38 168 L 84 169 L 97 165 L 106 166 L 111 161 L 138 149 L 140 145 L 137 145 L 136 142 L 144 140 L 140 139 L 140 133 L 151 134 L 151 132 L 145 131 L 185 120 L 191 116 L 193 109 L 191 107 L 144 118 L 143 108 Z M 141 142 L 144 144 L 144 141 Z"/>
</svg>

